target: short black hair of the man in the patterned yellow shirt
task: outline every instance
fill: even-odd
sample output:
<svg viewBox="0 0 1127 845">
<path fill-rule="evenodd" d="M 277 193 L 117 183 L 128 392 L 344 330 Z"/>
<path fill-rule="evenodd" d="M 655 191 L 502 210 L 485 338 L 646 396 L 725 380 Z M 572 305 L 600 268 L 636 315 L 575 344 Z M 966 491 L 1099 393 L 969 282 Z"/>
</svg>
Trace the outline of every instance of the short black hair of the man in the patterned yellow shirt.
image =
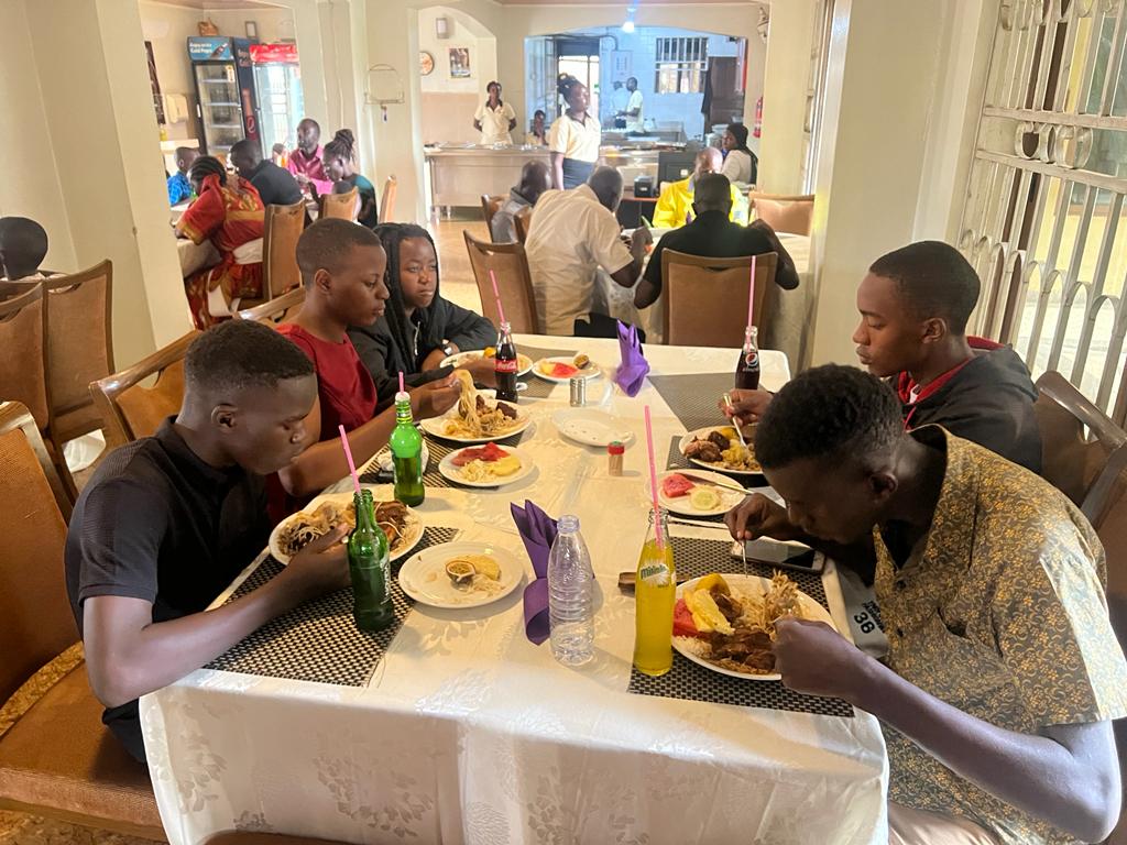
<svg viewBox="0 0 1127 845">
<path fill-rule="evenodd" d="M 904 420 L 896 394 L 862 370 L 826 364 L 780 390 L 755 428 L 755 457 L 765 469 L 805 459 L 864 459 L 894 444 Z"/>
</svg>

